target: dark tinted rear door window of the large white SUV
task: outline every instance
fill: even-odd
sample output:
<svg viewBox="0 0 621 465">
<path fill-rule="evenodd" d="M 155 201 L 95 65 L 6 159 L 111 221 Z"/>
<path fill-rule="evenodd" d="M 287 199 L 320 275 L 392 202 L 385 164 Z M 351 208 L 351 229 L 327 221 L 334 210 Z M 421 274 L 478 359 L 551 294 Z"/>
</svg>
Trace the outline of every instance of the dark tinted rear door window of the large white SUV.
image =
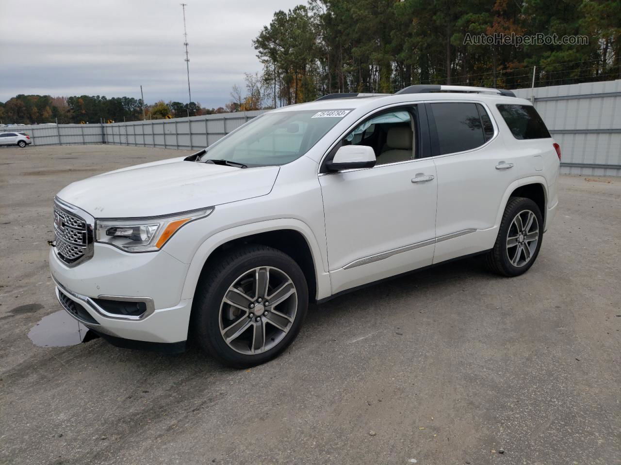
<svg viewBox="0 0 621 465">
<path fill-rule="evenodd" d="M 431 104 L 431 107 L 440 155 L 475 149 L 494 135 L 494 126 L 483 105 L 450 102 Z"/>
</svg>

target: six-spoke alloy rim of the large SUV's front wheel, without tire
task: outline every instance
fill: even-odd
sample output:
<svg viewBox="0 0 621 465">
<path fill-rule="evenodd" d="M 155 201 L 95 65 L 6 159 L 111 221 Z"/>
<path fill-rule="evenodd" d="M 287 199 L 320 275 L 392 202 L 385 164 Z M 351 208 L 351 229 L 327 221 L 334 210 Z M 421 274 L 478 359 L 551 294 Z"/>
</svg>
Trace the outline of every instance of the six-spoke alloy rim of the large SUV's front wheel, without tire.
<svg viewBox="0 0 621 465">
<path fill-rule="evenodd" d="M 238 277 L 220 304 L 222 339 L 236 352 L 255 355 L 288 334 L 297 312 L 293 281 L 275 267 L 257 267 Z"/>
</svg>

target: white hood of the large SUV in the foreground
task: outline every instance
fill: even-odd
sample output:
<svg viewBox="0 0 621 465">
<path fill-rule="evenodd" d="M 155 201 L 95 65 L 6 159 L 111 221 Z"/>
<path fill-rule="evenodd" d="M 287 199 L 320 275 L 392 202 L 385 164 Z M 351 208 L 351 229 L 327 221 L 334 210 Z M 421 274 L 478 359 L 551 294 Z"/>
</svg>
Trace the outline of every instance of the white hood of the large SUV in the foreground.
<svg viewBox="0 0 621 465">
<path fill-rule="evenodd" d="M 57 197 L 95 218 L 168 215 L 267 195 L 278 170 L 278 166 L 241 169 L 179 157 L 74 182 Z"/>
</svg>

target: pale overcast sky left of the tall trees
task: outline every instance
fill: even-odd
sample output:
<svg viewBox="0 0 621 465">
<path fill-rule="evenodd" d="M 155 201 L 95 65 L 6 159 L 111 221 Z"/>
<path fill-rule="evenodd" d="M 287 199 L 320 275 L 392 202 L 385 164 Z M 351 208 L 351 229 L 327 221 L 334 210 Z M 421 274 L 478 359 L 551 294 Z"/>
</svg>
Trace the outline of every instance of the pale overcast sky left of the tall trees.
<svg viewBox="0 0 621 465">
<path fill-rule="evenodd" d="M 219 107 L 244 72 L 252 39 L 278 9 L 306 0 L 184 0 L 192 100 Z M 17 94 L 188 101 L 183 13 L 176 0 L 3 0 L 0 101 Z"/>
</svg>

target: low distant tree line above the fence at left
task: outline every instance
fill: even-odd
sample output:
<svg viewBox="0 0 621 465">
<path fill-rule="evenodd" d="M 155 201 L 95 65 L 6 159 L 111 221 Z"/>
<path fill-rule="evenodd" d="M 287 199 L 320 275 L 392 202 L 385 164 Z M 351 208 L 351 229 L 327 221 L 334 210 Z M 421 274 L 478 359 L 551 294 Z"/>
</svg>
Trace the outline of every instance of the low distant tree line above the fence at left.
<svg viewBox="0 0 621 465">
<path fill-rule="evenodd" d="M 143 113 L 144 110 L 144 113 Z M 137 121 L 142 118 L 158 120 L 168 115 L 175 118 L 224 113 L 227 109 L 203 108 L 197 102 L 183 104 L 163 100 L 153 105 L 143 105 L 142 99 L 102 95 L 51 97 L 50 95 L 17 95 L 0 102 L 0 123 L 99 123 Z M 144 116 L 143 116 L 144 115 Z"/>
</svg>

